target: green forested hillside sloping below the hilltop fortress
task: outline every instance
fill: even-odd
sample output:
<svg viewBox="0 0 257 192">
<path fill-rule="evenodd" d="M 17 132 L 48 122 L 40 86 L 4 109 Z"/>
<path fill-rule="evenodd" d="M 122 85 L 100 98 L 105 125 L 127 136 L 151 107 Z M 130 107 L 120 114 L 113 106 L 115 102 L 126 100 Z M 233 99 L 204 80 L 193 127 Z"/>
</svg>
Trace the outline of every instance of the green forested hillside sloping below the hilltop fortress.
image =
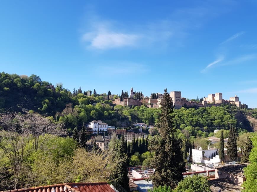
<svg viewBox="0 0 257 192">
<path fill-rule="evenodd" d="M 160 109 L 145 106 L 124 107 L 113 105 L 107 100 L 107 94 L 86 95 L 80 88 L 71 93 L 58 84 L 54 89 L 51 83 L 42 81 L 37 75 L 27 77 L 16 74 L 0 74 L 0 109 L 4 111 L 26 112 L 33 110 L 51 120 L 63 123 L 71 132 L 80 129 L 83 123 L 101 119 L 109 125 L 130 127 L 132 123 L 155 125 Z M 186 129 L 190 135 L 197 131 L 212 132 L 216 128 L 229 129 L 236 125 L 238 129 L 252 131 L 252 126 L 245 115 L 257 117 L 257 109 L 240 110 L 232 105 L 206 108 L 182 107 L 174 110 L 177 128 Z"/>
</svg>

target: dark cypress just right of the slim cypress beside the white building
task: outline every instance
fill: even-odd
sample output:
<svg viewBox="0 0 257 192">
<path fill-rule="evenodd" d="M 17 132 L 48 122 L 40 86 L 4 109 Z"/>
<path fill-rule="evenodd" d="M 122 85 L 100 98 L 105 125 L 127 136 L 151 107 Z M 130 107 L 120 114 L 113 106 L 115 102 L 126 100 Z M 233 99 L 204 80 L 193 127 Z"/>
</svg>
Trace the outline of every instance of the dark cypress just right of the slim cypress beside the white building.
<svg viewBox="0 0 257 192">
<path fill-rule="evenodd" d="M 233 126 L 229 129 L 227 155 L 231 161 L 234 161 L 237 158 L 237 130 Z"/>
</svg>

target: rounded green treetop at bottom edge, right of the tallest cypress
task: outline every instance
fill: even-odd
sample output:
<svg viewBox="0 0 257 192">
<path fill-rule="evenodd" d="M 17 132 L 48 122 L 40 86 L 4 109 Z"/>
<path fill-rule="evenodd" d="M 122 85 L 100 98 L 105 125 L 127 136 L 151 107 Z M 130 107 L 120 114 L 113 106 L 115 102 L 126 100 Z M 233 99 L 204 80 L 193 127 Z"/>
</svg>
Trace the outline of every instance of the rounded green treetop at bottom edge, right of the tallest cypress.
<svg viewBox="0 0 257 192">
<path fill-rule="evenodd" d="M 207 177 L 194 175 L 180 181 L 173 192 L 211 192 Z"/>
</svg>

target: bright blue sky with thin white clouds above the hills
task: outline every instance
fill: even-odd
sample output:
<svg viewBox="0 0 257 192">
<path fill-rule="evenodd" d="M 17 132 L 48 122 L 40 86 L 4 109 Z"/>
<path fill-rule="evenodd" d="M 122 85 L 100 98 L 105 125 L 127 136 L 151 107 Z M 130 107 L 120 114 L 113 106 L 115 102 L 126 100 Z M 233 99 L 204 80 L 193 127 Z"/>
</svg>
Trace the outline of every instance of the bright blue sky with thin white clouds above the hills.
<svg viewBox="0 0 257 192">
<path fill-rule="evenodd" d="M 0 71 L 257 107 L 256 1 L 1 1 Z"/>
</svg>

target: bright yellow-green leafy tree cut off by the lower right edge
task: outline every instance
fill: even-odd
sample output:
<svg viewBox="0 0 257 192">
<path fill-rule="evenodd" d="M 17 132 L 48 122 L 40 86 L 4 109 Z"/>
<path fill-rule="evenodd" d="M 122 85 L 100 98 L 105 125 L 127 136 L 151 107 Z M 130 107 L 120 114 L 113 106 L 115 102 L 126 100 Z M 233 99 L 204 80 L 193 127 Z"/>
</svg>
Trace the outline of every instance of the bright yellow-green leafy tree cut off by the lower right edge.
<svg viewBox="0 0 257 192">
<path fill-rule="evenodd" d="M 257 189 L 257 134 L 251 138 L 253 148 L 249 155 L 250 164 L 244 168 L 246 181 L 243 183 L 244 192 L 255 192 Z"/>
</svg>

